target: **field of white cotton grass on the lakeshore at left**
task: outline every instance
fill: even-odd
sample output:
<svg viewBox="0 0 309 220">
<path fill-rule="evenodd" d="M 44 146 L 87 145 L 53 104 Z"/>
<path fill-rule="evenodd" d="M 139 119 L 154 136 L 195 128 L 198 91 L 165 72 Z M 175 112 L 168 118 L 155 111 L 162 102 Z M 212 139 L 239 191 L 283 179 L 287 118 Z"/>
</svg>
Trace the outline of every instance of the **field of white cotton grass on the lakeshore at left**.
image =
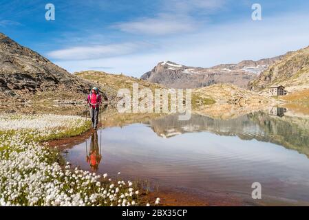
<svg viewBox="0 0 309 220">
<path fill-rule="evenodd" d="M 136 206 L 130 184 L 101 182 L 70 162 L 62 167 L 59 153 L 40 144 L 85 123 L 79 116 L 0 115 L 0 206 Z"/>
</svg>

